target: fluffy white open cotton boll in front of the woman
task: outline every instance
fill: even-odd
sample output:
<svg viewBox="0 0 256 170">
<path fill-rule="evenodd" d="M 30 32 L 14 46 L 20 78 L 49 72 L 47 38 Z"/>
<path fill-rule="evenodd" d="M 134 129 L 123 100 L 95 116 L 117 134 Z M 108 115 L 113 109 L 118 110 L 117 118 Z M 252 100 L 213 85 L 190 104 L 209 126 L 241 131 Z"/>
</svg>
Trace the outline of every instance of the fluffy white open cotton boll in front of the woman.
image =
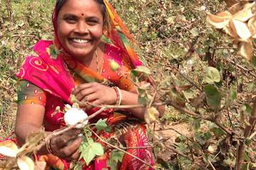
<svg viewBox="0 0 256 170">
<path fill-rule="evenodd" d="M 85 120 L 88 117 L 88 115 L 85 113 L 85 111 L 82 111 L 79 108 L 70 108 L 65 115 L 64 115 L 64 121 L 66 125 L 75 125 L 82 120 Z M 85 125 L 87 125 L 88 120 L 86 120 L 84 123 L 77 125 L 75 128 L 83 128 Z"/>
</svg>

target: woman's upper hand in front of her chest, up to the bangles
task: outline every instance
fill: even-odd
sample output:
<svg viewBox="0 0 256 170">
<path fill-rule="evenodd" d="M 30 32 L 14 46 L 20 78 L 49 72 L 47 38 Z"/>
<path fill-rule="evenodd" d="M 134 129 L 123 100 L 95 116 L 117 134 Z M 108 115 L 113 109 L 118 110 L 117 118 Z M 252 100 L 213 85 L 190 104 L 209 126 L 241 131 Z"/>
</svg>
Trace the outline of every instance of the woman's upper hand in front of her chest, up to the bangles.
<svg viewBox="0 0 256 170">
<path fill-rule="evenodd" d="M 112 105 L 117 101 L 115 90 L 99 83 L 80 84 L 73 90 L 73 94 L 81 104 L 88 101 L 95 105 Z"/>
</svg>

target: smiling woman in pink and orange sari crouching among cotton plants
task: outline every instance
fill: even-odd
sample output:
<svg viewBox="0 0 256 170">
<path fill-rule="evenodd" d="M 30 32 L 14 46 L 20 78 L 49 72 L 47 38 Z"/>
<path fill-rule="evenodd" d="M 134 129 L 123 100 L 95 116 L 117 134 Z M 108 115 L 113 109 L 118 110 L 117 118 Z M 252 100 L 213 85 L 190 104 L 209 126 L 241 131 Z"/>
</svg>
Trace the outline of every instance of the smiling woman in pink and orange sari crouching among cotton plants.
<svg viewBox="0 0 256 170">
<path fill-rule="evenodd" d="M 129 79 L 129 71 L 141 62 L 127 44 L 126 38 L 132 40 L 129 32 L 107 1 L 57 0 L 53 25 L 55 40 L 38 42 L 34 47 L 38 56 L 27 57 L 17 74 L 20 91 L 15 132 L 21 143 L 42 126 L 47 132 L 63 128 L 63 113 L 55 110 L 72 104 L 70 94 L 82 103 L 81 107 L 87 101 L 95 105 L 138 104 L 137 89 Z M 110 67 L 112 61 L 120 65 L 117 72 Z M 85 110 L 90 114 L 98 108 Z M 90 122 L 107 118 L 107 123 L 116 125 L 114 127 L 124 122 L 131 124 L 119 135 L 121 142 L 126 147 L 147 147 L 146 128 L 137 121 L 144 120 L 144 113 L 145 108 L 130 108 L 122 114 L 109 109 Z M 134 121 L 134 118 L 137 119 Z M 114 130 L 100 135 L 111 137 Z M 82 139 L 78 134 L 80 130 L 70 130 L 53 137 L 38 153 L 42 155 L 39 160 L 46 161 L 52 168 L 69 169 L 68 162 L 79 157 Z M 127 152 L 154 164 L 151 149 L 127 149 Z M 109 157 L 110 152 L 106 152 L 84 169 L 107 169 Z M 124 154 L 119 169 L 150 168 Z"/>
</svg>

